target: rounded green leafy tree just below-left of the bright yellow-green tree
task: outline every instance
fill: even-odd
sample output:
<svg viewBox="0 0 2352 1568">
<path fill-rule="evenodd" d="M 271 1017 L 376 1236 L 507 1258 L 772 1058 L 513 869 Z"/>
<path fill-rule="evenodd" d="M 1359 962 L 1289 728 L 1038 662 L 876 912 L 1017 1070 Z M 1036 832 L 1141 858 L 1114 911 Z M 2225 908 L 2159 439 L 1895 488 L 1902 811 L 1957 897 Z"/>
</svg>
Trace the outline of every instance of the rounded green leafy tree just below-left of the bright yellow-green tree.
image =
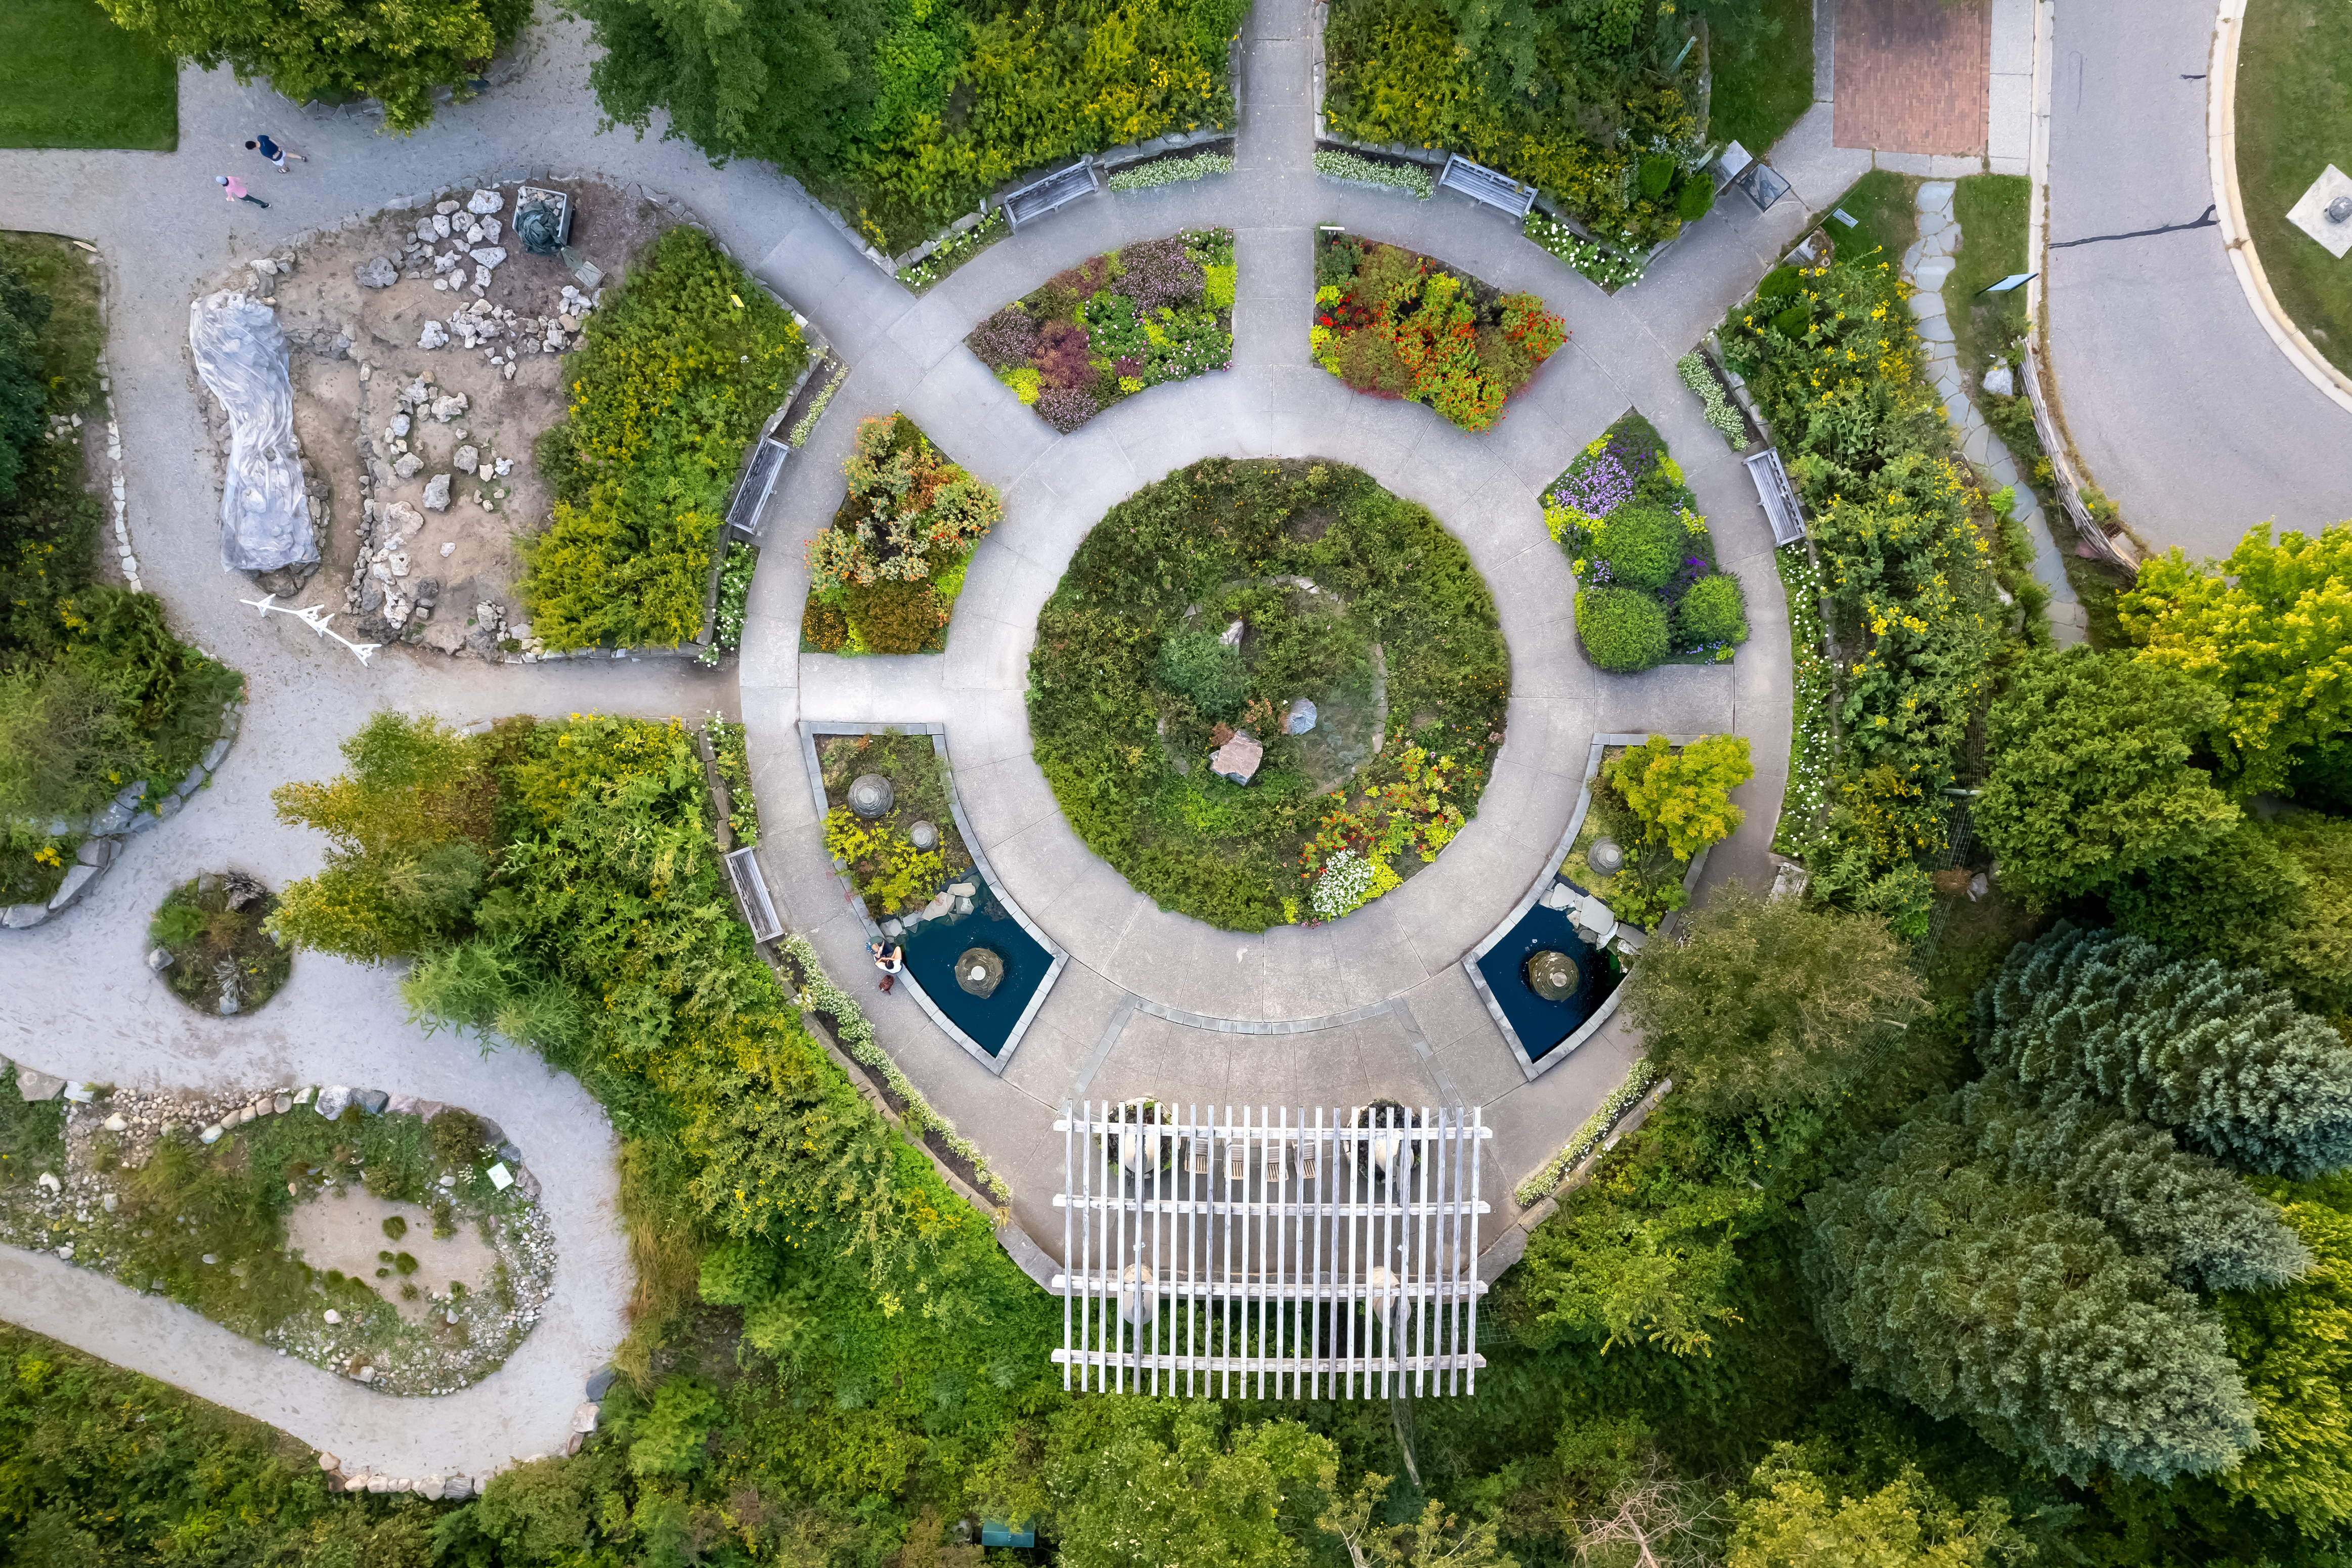
<svg viewBox="0 0 2352 1568">
<path fill-rule="evenodd" d="M 2237 806 L 2190 766 L 2225 710 L 2173 665 L 2086 646 L 2032 658 L 1992 705 L 1976 802 L 2002 882 L 2065 898 L 2230 832 Z"/>
</svg>

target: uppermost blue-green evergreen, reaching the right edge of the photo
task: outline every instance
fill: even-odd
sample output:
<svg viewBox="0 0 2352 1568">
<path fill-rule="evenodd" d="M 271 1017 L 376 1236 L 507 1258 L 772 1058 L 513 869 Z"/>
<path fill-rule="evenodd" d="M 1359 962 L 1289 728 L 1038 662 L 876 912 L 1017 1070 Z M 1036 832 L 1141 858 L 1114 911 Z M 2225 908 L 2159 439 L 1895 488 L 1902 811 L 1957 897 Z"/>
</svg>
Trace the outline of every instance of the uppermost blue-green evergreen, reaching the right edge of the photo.
<svg viewBox="0 0 2352 1568">
<path fill-rule="evenodd" d="M 2096 1095 L 2249 1171 L 2352 1164 L 2352 1051 L 2251 969 L 2060 922 L 1976 994 L 1976 1053 L 2044 1100 Z"/>
</svg>

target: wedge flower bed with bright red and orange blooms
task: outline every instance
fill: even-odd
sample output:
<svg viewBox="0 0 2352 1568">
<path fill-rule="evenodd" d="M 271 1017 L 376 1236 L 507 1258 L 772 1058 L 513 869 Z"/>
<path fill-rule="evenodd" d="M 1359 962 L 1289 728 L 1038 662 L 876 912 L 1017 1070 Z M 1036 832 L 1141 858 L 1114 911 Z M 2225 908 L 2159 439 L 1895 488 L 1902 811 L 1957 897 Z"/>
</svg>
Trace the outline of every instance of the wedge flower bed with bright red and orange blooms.
<svg viewBox="0 0 2352 1568">
<path fill-rule="evenodd" d="M 1315 362 L 1359 393 L 1486 430 L 1566 339 L 1566 322 L 1534 294 L 1503 294 L 1395 244 L 1317 235 L 1308 341 Z"/>
</svg>

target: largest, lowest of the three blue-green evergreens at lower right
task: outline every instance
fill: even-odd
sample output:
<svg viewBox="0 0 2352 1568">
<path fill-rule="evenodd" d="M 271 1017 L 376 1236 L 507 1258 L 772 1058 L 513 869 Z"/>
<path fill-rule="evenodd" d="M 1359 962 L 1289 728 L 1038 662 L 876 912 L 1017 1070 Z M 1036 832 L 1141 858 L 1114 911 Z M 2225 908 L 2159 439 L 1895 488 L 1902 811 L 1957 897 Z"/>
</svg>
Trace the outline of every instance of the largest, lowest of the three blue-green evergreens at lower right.
<svg viewBox="0 0 2352 1568">
<path fill-rule="evenodd" d="M 2220 1324 L 2154 1262 L 1940 1117 L 1804 1201 L 1804 1274 L 1863 1387 L 2084 1481 L 2227 1469 L 2256 1441 Z"/>
</svg>

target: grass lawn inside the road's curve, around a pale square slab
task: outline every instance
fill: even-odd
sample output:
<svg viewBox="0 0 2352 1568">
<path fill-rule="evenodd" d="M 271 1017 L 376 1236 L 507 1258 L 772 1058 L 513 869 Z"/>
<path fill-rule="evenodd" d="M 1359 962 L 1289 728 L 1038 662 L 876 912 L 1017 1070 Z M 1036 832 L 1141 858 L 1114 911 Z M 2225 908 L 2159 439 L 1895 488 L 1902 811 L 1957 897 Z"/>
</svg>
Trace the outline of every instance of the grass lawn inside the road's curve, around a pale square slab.
<svg viewBox="0 0 2352 1568">
<path fill-rule="evenodd" d="M 2237 186 L 2270 292 L 2352 371 L 2352 256 L 2286 221 L 2328 165 L 2352 172 L 2352 5 L 2253 0 L 2237 52 Z"/>
</svg>

